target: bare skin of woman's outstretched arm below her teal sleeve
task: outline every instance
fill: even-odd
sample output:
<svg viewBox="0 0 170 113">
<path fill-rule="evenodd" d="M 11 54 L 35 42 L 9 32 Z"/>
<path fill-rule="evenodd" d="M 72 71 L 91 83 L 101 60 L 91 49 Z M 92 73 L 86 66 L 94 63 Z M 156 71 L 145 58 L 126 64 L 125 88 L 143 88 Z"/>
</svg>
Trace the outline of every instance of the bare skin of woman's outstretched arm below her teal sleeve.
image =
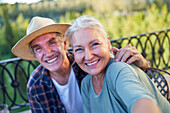
<svg viewBox="0 0 170 113">
<path fill-rule="evenodd" d="M 135 103 L 132 113 L 161 113 L 161 111 L 152 100 L 141 98 Z"/>
</svg>

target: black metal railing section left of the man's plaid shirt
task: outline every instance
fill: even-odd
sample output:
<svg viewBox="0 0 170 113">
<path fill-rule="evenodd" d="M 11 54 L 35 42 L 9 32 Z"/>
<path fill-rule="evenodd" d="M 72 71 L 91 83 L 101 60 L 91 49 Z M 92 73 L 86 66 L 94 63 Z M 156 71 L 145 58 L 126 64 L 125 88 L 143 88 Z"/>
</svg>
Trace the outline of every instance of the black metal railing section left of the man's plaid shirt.
<svg viewBox="0 0 170 113">
<path fill-rule="evenodd" d="M 13 58 L 0 61 L 0 104 L 9 110 L 28 106 L 26 85 L 35 63 Z"/>
</svg>

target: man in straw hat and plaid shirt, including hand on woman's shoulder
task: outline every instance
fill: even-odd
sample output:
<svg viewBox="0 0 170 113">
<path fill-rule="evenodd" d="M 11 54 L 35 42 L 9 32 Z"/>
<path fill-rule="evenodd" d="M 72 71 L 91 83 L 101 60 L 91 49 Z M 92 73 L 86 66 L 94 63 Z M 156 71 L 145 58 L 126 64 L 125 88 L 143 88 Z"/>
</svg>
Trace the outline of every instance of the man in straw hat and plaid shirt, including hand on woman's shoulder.
<svg viewBox="0 0 170 113">
<path fill-rule="evenodd" d="M 37 60 L 40 65 L 33 71 L 27 85 L 32 112 L 81 113 L 80 83 L 86 73 L 74 62 L 64 41 L 70 24 L 56 24 L 49 18 L 33 17 L 27 35 L 12 48 L 22 59 Z M 116 54 L 117 61 L 134 62 L 138 67 L 149 65 L 133 47 L 126 46 Z M 128 60 L 127 60 L 128 59 Z"/>
</svg>

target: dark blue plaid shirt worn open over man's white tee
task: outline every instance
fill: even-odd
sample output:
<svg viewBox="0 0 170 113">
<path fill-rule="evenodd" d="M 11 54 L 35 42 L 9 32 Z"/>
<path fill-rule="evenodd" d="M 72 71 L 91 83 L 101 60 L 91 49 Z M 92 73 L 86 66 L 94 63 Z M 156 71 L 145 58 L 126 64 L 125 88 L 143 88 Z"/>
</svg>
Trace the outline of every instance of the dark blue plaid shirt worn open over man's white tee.
<svg viewBox="0 0 170 113">
<path fill-rule="evenodd" d="M 81 80 L 86 73 L 74 63 L 73 55 L 69 53 L 67 56 L 80 88 Z M 33 113 L 66 113 L 66 109 L 50 78 L 49 71 L 42 65 L 39 65 L 30 76 L 27 84 L 27 94 Z"/>
</svg>

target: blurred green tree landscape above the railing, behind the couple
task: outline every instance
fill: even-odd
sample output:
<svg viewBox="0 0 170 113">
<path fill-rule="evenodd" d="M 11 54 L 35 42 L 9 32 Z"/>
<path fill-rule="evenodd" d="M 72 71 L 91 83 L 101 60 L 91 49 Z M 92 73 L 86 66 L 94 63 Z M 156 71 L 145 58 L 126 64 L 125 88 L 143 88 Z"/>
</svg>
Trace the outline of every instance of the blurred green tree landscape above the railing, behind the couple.
<svg viewBox="0 0 170 113">
<path fill-rule="evenodd" d="M 170 0 L 0 0 L 0 60 L 15 57 L 11 48 L 33 16 L 72 23 L 81 15 L 95 16 L 118 39 L 170 28 Z"/>
</svg>

